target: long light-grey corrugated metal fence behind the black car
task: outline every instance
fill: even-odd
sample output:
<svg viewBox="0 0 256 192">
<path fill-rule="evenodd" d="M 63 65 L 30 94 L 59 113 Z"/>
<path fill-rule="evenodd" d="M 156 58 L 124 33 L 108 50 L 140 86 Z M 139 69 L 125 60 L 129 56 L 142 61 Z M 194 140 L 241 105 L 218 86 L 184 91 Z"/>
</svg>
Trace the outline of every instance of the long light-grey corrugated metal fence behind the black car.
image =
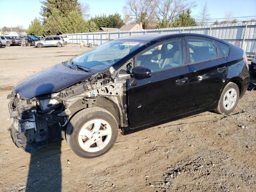
<svg viewBox="0 0 256 192">
<path fill-rule="evenodd" d="M 124 36 L 176 33 L 197 33 L 214 36 L 242 48 L 246 51 L 247 56 L 256 54 L 256 22 L 66 35 L 69 37 L 70 43 L 80 44 L 80 40 L 83 40 L 86 44 L 92 43 L 93 46 L 96 46 Z"/>
</svg>

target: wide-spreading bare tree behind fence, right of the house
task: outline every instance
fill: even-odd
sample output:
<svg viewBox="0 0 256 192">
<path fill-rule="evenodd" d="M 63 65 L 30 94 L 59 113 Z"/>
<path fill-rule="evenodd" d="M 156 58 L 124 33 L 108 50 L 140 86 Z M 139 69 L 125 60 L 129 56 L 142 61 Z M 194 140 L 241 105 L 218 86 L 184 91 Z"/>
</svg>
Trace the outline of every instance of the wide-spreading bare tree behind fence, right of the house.
<svg viewBox="0 0 256 192">
<path fill-rule="evenodd" d="M 183 11 L 196 6 L 190 0 L 154 0 L 154 16 L 159 22 L 172 23 Z"/>
</svg>

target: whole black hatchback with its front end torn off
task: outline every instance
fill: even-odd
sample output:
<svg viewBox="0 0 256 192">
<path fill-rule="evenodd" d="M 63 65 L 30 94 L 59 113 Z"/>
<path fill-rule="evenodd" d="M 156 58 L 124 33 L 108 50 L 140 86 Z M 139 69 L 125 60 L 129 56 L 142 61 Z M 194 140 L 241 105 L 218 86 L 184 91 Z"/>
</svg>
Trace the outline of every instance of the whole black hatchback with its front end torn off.
<svg viewBox="0 0 256 192">
<path fill-rule="evenodd" d="M 245 52 L 218 38 L 126 36 L 16 85 L 11 136 L 28 152 L 66 138 L 75 154 L 94 158 L 112 148 L 118 128 L 127 134 L 205 111 L 230 114 L 249 81 Z"/>
</svg>

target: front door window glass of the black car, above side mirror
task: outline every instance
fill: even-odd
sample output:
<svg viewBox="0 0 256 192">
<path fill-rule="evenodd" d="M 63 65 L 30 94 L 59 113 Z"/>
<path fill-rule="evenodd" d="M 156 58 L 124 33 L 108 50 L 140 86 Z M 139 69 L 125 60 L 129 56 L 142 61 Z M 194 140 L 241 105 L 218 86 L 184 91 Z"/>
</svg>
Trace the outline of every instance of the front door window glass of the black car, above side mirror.
<svg viewBox="0 0 256 192">
<path fill-rule="evenodd" d="M 137 58 L 136 66 L 144 66 L 152 72 L 183 65 L 182 42 L 173 40 L 147 50 Z"/>
</svg>

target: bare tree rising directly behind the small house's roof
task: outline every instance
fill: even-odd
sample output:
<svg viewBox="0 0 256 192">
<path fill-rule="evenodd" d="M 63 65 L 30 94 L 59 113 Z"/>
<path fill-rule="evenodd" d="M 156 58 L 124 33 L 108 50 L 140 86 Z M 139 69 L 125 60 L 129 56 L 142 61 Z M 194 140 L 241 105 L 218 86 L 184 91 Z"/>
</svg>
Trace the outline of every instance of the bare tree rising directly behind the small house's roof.
<svg viewBox="0 0 256 192">
<path fill-rule="evenodd" d="M 123 6 L 124 22 L 140 23 L 143 28 L 147 28 L 148 24 L 154 19 L 154 0 L 126 0 Z"/>
</svg>

